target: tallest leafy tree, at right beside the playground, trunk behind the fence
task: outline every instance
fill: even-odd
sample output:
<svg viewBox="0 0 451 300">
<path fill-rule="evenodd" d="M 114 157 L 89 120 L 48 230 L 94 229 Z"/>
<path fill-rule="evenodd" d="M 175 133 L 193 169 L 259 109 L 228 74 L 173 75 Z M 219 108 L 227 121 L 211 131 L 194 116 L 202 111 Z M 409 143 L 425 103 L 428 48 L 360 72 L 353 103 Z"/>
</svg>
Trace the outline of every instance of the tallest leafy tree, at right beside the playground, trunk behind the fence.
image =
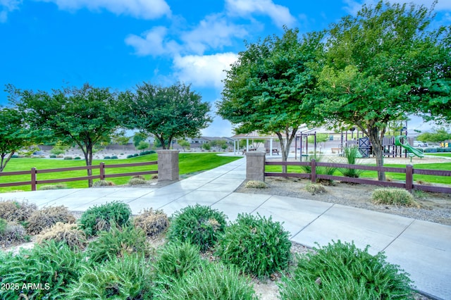
<svg viewBox="0 0 451 300">
<path fill-rule="evenodd" d="M 321 101 L 311 101 L 311 110 L 332 125 L 357 125 L 369 137 L 378 166 L 388 123 L 418 113 L 421 91 L 443 77 L 436 70 L 446 63 L 438 33 L 428 31 L 432 20 L 424 6 L 380 1 L 328 32 L 316 97 Z M 385 180 L 385 173 L 378 179 Z"/>
</svg>

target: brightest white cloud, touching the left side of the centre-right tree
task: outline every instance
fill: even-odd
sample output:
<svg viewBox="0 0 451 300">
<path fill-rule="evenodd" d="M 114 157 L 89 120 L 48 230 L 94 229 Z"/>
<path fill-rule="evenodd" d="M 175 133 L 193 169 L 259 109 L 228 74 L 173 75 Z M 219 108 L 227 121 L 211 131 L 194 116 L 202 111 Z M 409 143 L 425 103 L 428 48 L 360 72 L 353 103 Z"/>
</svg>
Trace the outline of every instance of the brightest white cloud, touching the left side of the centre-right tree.
<svg viewBox="0 0 451 300">
<path fill-rule="evenodd" d="M 175 56 L 173 68 L 180 82 L 192 83 L 197 87 L 222 89 L 226 77 L 224 70 L 237 60 L 237 54 L 221 53 L 214 55 Z"/>
</svg>

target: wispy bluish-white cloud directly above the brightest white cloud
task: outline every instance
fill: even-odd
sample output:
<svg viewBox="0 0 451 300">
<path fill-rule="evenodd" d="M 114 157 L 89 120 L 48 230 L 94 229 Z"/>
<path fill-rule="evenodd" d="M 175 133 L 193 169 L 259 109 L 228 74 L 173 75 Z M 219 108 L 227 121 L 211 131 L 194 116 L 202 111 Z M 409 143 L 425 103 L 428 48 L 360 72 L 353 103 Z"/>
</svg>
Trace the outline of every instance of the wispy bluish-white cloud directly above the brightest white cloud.
<svg viewBox="0 0 451 300">
<path fill-rule="evenodd" d="M 233 37 L 245 37 L 247 31 L 240 25 L 230 24 L 222 15 L 207 15 L 194 30 L 182 36 L 187 49 L 203 54 L 206 49 L 230 46 Z"/>
</svg>

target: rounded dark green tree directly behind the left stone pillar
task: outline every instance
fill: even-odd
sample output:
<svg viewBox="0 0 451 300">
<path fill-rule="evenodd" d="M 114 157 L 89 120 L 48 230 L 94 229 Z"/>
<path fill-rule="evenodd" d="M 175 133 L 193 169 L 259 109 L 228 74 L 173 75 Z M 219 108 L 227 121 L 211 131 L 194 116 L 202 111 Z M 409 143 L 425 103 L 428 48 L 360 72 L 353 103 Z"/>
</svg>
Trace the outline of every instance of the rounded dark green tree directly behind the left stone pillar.
<svg viewBox="0 0 451 300">
<path fill-rule="evenodd" d="M 121 98 L 123 125 L 153 135 L 163 149 L 174 138 L 200 135 L 200 130 L 211 123 L 209 104 L 202 102 L 202 96 L 192 92 L 189 85 L 161 87 L 143 82 L 135 92 L 123 93 Z"/>
</svg>

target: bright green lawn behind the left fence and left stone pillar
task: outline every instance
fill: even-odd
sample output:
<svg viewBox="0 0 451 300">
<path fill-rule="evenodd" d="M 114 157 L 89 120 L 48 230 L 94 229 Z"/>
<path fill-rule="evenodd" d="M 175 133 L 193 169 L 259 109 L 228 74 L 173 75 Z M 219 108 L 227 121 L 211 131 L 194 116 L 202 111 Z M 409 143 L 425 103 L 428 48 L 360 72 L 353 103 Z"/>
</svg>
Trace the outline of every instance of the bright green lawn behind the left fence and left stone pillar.
<svg viewBox="0 0 451 300">
<path fill-rule="evenodd" d="M 220 165 L 230 163 L 235 161 L 240 157 L 235 156 L 218 156 L 216 153 L 202 153 L 202 154 L 179 154 L 179 168 L 180 175 L 211 170 Z M 92 165 L 99 165 L 102 161 L 106 165 L 116 165 L 122 163 L 142 163 L 145 161 L 156 161 L 157 154 L 149 154 L 145 156 L 137 156 L 134 158 L 126 159 L 97 159 L 94 160 Z M 37 168 L 37 170 L 52 169 L 52 168 L 70 168 L 76 166 L 84 166 L 84 160 L 77 161 L 63 161 L 57 158 L 12 158 L 11 161 L 6 165 L 6 170 L 4 172 L 14 172 L 30 170 L 31 168 Z M 106 169 L 106 174 L 113 173 L 126 173 L 126 172 L 137 172 L 141 170 L 156 170 L 156 165 L 144 165 L 142 167 L 124 167 L 124 168 L 111 168 Z M 98 175 L 99 170 L 93 170 L 93 175 Z M 1 174 L 1 173 L 0 173 Z M 48 180 L 57 178 L 67 178 L 67 177 L 82 177 L 86 176 L 86 170 L 77 170 L 70 172 L 61 173 L 43 173 L 37 174 L 37 180 Z M 145 176 L 149 178 L 150 175 Z M 109 181 L 114 182 L 116 185 L 123 185 L 130 180 L 128 177 L 114 177 L 108 178 Z M 0 176 L 0 183 L 6 182 L 20 182 L 20 181 L 30 181 L 30 175 L 13 175 L 13 176 Z M 94 180 L 95 181 L 95 180 Z M 67 187 L 87 187 L 87 180 L 65 182 L 64 185 Z M 37 186 L 39 189 L 39 185 Z M 11 192 L 13 190 L 23 190 L 30 191 L 30 185 L 20 186 L 20 187 L 1 187 L 0 192 Z"/>
</svg>

